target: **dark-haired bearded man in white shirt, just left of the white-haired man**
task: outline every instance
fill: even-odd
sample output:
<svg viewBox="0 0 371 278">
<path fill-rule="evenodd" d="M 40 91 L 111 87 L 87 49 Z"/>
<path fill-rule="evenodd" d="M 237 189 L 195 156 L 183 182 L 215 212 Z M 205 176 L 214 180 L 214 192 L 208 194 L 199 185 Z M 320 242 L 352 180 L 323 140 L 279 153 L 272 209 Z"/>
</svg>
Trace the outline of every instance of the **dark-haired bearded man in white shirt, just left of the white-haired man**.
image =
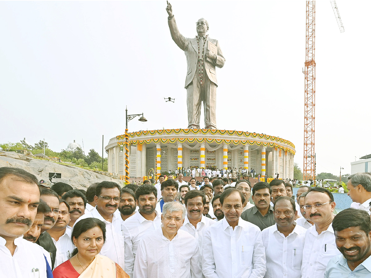
<svg viewBox="0 0 371 278">
<path fill-rule="evenodd" d="M 135 199 L 139 211 L 121 224 L 122 232 L 125 235 L 126 273 L 133 273 L 134 260 L 142 237 L 161 226 L 161 214 L 155 210 L 157 204 L 156 196 L 157 189 L 154 186 L 139 186 L 137 191 L 135 191 Z"/>
</svg>

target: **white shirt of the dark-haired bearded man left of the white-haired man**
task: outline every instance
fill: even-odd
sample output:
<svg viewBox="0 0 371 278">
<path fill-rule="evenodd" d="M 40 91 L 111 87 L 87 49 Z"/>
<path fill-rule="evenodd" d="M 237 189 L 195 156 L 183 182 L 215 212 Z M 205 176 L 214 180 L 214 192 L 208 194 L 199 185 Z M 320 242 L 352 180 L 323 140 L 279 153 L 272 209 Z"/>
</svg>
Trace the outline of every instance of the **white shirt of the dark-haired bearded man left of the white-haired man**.
<svg viewBox="0 0 371 278">
<path fill-rule="evenodd" d="M 125 236 L 125 272 L 133 273 L 134 260 L 142 237 L 160 227 L 161 213 L 157 211 L 153 221 L 145 219 L 137 212 L 121 224 L 121 229 Z"/>
</svg>

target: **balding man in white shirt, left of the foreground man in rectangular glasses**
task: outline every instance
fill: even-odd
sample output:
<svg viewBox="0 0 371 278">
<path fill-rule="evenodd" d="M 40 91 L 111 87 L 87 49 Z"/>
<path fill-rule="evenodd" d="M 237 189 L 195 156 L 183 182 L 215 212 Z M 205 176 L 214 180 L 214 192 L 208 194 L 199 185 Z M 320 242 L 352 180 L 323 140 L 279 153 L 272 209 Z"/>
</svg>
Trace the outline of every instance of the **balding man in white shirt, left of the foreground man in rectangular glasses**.
<svg viewBox="0 0 371 278">
<path fill-rule="evenodd" d="M 295 224 L 295 201 L 287 196 L 276 199 L 275 222 L 262 231 L 267 272 L 265 278 L 301 278 L 306 229 Z"/>
</svg>

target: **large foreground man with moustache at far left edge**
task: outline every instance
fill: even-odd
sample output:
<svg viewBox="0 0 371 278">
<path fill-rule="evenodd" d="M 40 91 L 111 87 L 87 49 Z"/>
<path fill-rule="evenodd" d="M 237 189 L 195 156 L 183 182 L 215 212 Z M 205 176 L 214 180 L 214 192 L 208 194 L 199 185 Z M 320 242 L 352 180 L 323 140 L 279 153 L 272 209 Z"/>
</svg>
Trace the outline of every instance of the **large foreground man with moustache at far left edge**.
<svg viewBox="0 0 371 278">
<path fill-rule="evenodd" d="M 40 203 L 37 178 L 18 168 L 0 168 L 0 277 L 46 278 L 46 261 L 39 246 L 23 239 Z"/>
</svg>

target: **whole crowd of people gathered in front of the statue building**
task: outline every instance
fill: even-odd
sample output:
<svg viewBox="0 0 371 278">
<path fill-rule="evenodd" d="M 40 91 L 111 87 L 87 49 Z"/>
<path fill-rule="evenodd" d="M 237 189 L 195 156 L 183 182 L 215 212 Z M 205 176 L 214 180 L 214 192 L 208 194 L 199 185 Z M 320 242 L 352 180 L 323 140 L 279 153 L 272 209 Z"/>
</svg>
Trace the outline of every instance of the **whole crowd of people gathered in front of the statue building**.
<svg viewBox="0 0 371 278">
<path fill-rule="evenodd" d="M 326 188 L 224 178 L 84 191 L 0 168 L 0 277 L 371 277 L 370 173 L 336 215 Z"/>
</svg>

